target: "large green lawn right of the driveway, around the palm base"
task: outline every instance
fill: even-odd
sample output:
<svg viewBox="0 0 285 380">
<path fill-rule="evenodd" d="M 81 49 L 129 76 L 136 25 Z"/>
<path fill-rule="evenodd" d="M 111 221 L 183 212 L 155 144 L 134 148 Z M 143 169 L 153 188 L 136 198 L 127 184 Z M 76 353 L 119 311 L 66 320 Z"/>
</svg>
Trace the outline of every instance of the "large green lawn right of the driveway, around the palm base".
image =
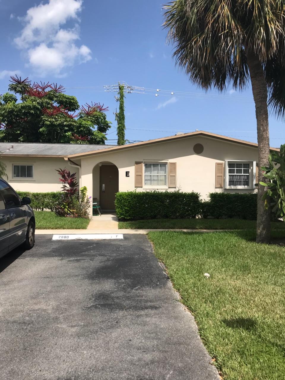
<svg viewBox="0 0 285 380">
<path fill-rule="evenodd" d="M 285 379 L 285 247 L 254 231 L 148 236 L 224 379 Z"/>
</svg>

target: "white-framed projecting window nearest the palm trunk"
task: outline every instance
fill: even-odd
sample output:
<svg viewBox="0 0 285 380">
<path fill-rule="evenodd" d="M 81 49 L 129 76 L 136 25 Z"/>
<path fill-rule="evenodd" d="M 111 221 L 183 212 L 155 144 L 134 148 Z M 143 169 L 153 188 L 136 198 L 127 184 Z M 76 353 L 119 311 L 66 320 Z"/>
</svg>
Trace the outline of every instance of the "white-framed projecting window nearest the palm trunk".
<svg viewBox="0 0 285 380">
<path fill-rule="evenodd" d="M 226 188 L 253 188 L 253 162 L 228 161 Z"/>
</svg>

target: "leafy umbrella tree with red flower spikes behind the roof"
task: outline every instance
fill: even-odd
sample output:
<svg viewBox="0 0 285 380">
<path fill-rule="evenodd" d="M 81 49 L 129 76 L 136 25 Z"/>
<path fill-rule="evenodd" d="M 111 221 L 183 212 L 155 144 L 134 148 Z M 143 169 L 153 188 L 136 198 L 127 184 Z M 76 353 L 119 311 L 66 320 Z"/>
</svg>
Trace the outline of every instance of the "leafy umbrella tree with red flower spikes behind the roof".
<svg viewBox="0 0 285 380">
<path fill-rule="evenodd" d="M 79 107 L 62 86 L 11 77 L 0 96 L 0 141 L 105 144 L 111 122 L 108 107 L 91 103 Z M 78 112 L 78 113 L 76 113 Z"/>
</svg>

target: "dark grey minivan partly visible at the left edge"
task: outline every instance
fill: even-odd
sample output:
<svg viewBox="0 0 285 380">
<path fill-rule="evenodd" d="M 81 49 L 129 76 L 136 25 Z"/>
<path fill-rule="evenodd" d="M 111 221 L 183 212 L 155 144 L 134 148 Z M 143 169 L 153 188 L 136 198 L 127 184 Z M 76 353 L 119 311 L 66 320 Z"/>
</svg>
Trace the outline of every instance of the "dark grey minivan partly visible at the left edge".
<svg viewBox="0 0 285 380">
<path fill-rule="evenodd" d="M 0 178 L 0 257 L 23 244 L 35 244 L 35 215 L 30 198 L 21 199 L 13 188 Z"/>
</svg>

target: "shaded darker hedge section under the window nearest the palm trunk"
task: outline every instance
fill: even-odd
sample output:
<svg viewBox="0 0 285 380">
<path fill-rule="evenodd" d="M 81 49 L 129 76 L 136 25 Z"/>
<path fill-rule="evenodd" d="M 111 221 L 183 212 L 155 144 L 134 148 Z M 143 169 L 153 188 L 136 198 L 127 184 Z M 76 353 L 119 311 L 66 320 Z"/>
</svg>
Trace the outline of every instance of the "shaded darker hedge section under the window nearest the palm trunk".
<svg viewBox="0 0 285 380">
<path fill-rule="evenodd" d="M 210 193 L 201 206 L 202 217 L 256 220 L 257 194 Z"/>
</svg>

